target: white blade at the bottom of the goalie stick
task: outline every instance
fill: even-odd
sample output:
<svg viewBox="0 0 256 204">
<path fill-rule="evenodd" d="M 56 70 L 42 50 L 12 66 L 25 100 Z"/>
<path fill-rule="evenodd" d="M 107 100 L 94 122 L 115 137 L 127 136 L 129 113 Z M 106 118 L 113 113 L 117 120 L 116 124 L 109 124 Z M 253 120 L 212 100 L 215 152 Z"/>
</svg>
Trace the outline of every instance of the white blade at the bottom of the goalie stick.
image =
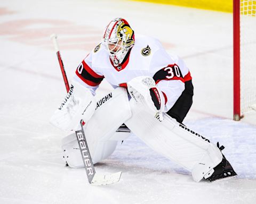
<svg viewBox="0 0 256 204">
<path fill-rule="evenodd" d="M 120 180 L 121 175 L 122 175 L 122 172 L 117 172 L 109 175 L 102 175 L 102 174 L 95 173 L 91 184 L 92 185 L 109 185 L 112 183 L 117 183 Z"/>
</svg>

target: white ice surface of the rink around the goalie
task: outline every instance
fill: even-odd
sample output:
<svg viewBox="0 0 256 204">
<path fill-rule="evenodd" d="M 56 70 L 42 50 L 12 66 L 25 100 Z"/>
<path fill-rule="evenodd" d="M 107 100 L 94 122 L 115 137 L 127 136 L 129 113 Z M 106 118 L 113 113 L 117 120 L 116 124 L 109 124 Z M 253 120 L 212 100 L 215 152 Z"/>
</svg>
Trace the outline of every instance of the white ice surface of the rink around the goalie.
<svg viewBox="0 0 256 204">
<path fill-rule="evenodd" d="M 231 14 L 130 1 L 2 0 L 0 16 L 1 204 L 255 203 L 255 115 L 232 120 Z M 71 80 L 119 16 L 185 60 L 195 87 L 185 124 L 226 147 L 237 179 L 195 183 L 135 136 L 95 166 L 99 173 L 123 171 L 117 184 L 91 186 L 84 169 L 65 167 L 60 141 L 67 133 L 49 124 L 66 91 L 50 35 L 58 35 Z M 109 89 L 103 81 L 98 95 Z"/>
</svg>

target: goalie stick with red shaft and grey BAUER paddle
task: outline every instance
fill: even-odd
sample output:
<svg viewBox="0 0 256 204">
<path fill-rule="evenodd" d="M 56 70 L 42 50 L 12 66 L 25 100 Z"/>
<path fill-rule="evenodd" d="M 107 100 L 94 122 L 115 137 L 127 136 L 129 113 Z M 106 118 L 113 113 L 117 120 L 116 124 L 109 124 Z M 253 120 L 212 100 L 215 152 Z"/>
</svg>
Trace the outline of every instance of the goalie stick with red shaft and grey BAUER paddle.
<svg viewBox="0 0 256 204">
<path fill-rule="evenodd" d="M 64 69 L 64 65 L 62 62 L 62 58 L 60 55 L 60 49 L 59 49 L 58 42 L 57 42 L 57 35 L 52 34 L 51 39 L 53 41 L 53 45 L 54 45 L 54 48 L 55 48 L 55 51 L 56 51 L 56 54 L 58 57 L 58 61 L 60 64 L 62 77 L 63 77 L 65 86 L 66 86 L 66 89 L 68 92 L 69 84 L 68 84 L 67 75 L 66 75 L 66 72 Z M 85 167 L 85 171 L 86 171 L 86 175 L 87 175 L 87 179 L 88 179 L 89 183 L 92 185 L 108 185 L 111 183 L 117 183 L 120 180 L 122 172 L 117 172 L 117 173 L 109 174 L 109 175 L 101 175 L 101 174 L 98 174 L 95 172 L 95 168 L 94 168 L 94 165 L 92 162 L 90 151 L 89 151 L 89 148 L 88 148 L 88 145 L 86 142 L 86 138 L 84 135 L 83 120 L 81 120 L 80 125 L 81 125 L 81 130 L 78 130 L 75 132 L 76 132 L 78 146 L 81 151 L 81 156 L 83 159 L 83 163 L 84 163 L 84 167 Z"/>
</svg>

